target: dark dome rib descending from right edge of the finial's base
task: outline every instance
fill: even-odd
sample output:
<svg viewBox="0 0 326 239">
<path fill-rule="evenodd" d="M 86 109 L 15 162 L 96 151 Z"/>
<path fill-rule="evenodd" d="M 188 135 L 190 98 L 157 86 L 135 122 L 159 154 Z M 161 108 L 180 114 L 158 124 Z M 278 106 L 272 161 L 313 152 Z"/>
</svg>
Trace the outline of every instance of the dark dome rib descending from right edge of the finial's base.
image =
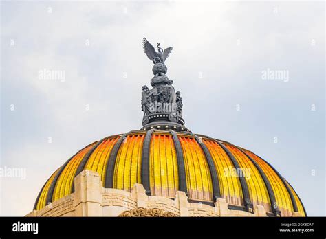
<svg viewBox="0 0 326 239">
<path fill-rule="evenodd" d="M 182 146 L 177 137 L 177 133 L 174 130 L 169 130 L 172 135 L 173 143 L 175 146 L 175 152 L 177 152 L 177 173 L 179 178 L 179 188 L 178 191 L 185 192 L 188 196 L 188 190 L 186 185 L 186 170 L 184 169 L 184 153 L 182 152 Z"/>
</svg>

